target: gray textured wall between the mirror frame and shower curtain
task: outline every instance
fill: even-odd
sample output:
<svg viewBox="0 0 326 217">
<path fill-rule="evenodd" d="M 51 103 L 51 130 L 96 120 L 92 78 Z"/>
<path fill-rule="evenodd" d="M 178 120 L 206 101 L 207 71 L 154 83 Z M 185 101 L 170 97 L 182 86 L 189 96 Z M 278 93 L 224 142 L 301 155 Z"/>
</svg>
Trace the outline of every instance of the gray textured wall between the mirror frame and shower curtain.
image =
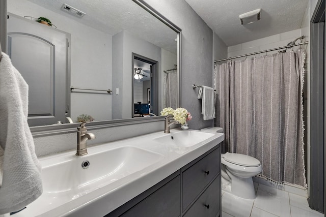
<svg viewBox="0 0 326 217">
<path fill-rule="evenodd" d="M 197 99 L 198 88 L 193 90 L 192 85 L 213 85 L 213 38 L 216 42 L 214 46 L 216 57 L 222 53 L 226 56 L 227 46 L 217 36 L 213 37 L 212 30 L 184 0 L 146 0 L 146 2 L 182 29 L 180 96 L 181 107 L 193 115 L 189 127 L 198 130 L 212 126 L 212 120 L 203 120 L 201 101 Z"/>
</svg>

